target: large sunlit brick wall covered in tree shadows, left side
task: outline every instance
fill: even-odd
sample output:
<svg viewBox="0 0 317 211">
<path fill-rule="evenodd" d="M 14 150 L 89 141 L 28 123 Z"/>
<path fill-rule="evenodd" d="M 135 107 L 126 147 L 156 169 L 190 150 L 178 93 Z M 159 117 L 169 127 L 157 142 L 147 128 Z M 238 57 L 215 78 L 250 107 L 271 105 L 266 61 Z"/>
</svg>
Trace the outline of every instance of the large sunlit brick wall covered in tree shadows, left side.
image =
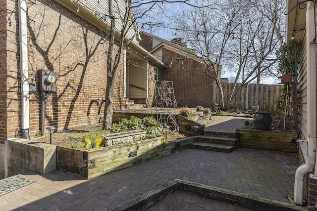
<svg viewBox="0 0 317 211">
<path fill-rule="evenodd" d="M 17 2 L 17 1 L 16 1 Z M 106 34 L 77 14 L 52 0 L 27 1 L 29 82 L 36 84 L 30 94 L 30 137 L 41 128 L 41 93 L 38 71 L 56 72 L 56 92 L 46 103 L 45 127 L 58 130 L 98 123 L 104 114 L 92 99 L 105 99 Z M 1 4 L 0 44 L 0 141 L 21 137 L 21 89 L 19 70 L 18 5 L 13 0 Z M 4 38 L 4 39 L 3 39 Z M 116 43 L 117 44 L 117 43 Z M 123 96 L 123 59 L 119 65 L 114 108 Z"/>
</svg>

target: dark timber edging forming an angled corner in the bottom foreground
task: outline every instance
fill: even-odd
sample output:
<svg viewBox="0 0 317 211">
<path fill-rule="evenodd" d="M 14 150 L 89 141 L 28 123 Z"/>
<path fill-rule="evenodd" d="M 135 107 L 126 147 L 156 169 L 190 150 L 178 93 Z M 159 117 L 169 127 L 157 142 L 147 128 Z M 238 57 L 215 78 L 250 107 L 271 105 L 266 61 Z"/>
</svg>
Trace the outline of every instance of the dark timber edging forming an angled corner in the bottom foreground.
<svg viewBox="0 0 317 211">
<path fill-rule="evenodd" d="M 134 198 L 125 205 L 118 206 L 113 211 L 151 210 L 153 205 L 159 203 L 165 197 L 175 193 L 176 191 L 182 191 L 196 196 L 217 200 L 219 202 L 230 203 L 232 204 L 232 208 L 239 206 L 240 208 L 258 211 L 308 211 L 306 207 L 297 206 L 295 204 L 279 202 L 276 200 L 270 200 L 263 197 L 252 196 L 245 193 L 239 193 L 232 190 L 217 188 L 181 179 L 174 179 L 173 181 L 170 181 L 155 190 L 151 190 L 140 197 Z M 181 205 L 179 204 L 180 202 L 177 203 L 178 205 Z"/>
</svg>

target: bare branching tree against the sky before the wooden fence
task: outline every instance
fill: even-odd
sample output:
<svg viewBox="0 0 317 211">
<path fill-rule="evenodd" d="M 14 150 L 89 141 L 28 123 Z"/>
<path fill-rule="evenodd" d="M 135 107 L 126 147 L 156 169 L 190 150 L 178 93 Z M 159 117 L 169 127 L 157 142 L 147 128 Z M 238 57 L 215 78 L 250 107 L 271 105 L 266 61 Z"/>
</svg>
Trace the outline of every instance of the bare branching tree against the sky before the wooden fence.
<svg viewBox="0 0 317 211">
<path fill-rule="evenodd" d="M 206 64 L 204 70 L 215 79 L 221 93 L 218 67 L 235 73 L 235 87 L 226 102 L 222 93 L 224 109 L 230 108 L 243 86 L 254 80 L 260 83 L 261 76 L 274 72 L 284 8 L 282 0 L 221 0 L 208 8 L 184 8 L 174 16 L 183 39 L 209 64 L 216 64 Z M 213 77 L 210 70 L 215 72 Z"/>
</svg>

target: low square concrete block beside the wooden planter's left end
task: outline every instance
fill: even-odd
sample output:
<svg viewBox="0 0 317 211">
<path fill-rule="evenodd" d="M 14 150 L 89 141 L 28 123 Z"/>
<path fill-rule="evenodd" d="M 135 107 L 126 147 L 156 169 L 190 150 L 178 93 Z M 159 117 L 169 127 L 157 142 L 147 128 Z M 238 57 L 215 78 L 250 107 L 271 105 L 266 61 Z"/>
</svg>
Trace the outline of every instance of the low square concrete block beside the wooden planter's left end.
<svg viewBox="0 0 317 211">
<path fill-rule="evenodd" d="M 23 138 L 7 141 L 8 176 L 36 171 L 46 174 L 56 170 L 56 146 Z"/>
</svg>

